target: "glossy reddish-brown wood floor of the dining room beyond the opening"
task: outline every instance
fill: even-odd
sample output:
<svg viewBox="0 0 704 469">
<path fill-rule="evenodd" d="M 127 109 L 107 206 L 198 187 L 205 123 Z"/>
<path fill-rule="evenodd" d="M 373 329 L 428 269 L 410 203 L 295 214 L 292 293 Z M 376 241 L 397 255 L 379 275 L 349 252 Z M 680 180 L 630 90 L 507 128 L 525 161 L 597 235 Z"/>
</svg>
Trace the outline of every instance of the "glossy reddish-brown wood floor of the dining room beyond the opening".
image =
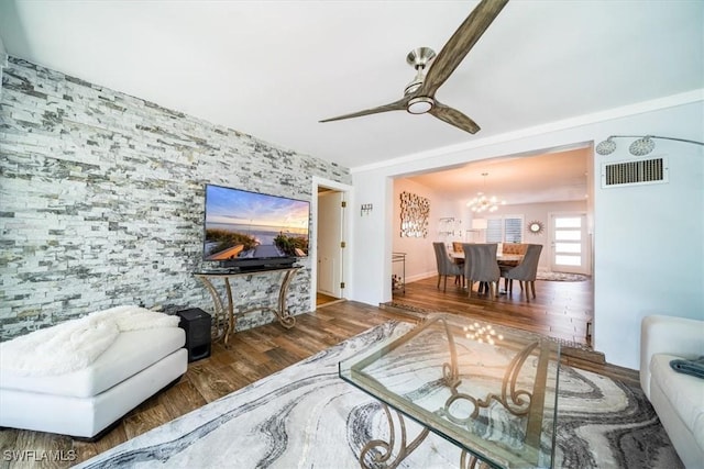
<svg viewBox="0 0 704 469">
<path fill-rule="evenodd" d="M 504 287 L 502 280 L 501 289 Z M 536 280 L 536 298 L 527 298 L 514 281 L 513 293 L 496 299 L 479 295 L 476 284 L 472 297 L 465 288 L 448 279 L 447 291 L 438 277 L 406 283 L 405 293 L 394 291 L 392 304 L 422 311 L 442 311 L 466 315 L 526 331 L 544 334 L 565 342 L 591 346 L 587 323 L 594 314 L 593 281 Z"/>
</svg>

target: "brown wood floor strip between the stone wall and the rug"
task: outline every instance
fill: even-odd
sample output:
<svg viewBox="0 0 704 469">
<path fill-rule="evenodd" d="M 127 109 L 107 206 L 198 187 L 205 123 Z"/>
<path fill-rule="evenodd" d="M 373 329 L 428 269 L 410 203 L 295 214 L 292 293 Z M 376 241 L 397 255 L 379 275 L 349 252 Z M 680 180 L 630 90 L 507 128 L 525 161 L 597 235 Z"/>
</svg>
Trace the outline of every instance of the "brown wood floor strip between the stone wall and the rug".
<svg viewBox="0 0 704 469">
<path fill-rule="evenodd" d="M 0 431 L 0 467 L 69 467 L 393 319 L 414 321 L 362 303 L 333 302 L 315 313 L 296 316 L 297 324 L 292 330 L 272 323 L 238 332 L 228 348 L 215 344 L 209 358 L 190 364 L 176 386 L 130 412 L 97 443 L 41 432 Z M 6 451 L 63 451 L 68 459 L 72 450 L 76 455 L 74 461 L 4 460 Z M 25 456 L 36 458 L 26 453 Z"/>
</svg>

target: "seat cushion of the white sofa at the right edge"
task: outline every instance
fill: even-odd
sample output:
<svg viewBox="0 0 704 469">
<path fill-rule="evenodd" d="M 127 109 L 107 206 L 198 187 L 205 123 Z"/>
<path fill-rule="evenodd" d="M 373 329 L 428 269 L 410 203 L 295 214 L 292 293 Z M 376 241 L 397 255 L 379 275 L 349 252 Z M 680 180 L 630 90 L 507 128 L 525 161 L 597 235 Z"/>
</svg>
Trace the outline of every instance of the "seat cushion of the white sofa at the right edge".
<svg viewBox="0 0 704 469">
<path fill-rule="evenodd" d="M 697 445 L 704 448 L 704 379 L 674 371 L 670 361 L 681 358 L 654 354 L 650 360 L 650 379 L 662 389 L 672 409 L 694 434 Z"/>
</svg>

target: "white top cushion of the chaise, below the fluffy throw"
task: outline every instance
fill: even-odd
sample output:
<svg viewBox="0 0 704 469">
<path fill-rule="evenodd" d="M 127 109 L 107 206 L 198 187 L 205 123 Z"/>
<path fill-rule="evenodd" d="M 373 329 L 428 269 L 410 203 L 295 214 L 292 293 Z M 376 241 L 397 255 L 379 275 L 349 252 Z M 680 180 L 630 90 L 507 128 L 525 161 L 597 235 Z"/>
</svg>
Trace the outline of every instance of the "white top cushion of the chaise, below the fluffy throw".
<svg viewBox="0 0 704 469">
<path fill-rule="evenodd" d="M 0 388 L 88 398 L 122 382 L 186 344 L 180 327 L 122 332 L 87 368 L 64 375 L 21 376 L 2 370 Z"/>
</svg>

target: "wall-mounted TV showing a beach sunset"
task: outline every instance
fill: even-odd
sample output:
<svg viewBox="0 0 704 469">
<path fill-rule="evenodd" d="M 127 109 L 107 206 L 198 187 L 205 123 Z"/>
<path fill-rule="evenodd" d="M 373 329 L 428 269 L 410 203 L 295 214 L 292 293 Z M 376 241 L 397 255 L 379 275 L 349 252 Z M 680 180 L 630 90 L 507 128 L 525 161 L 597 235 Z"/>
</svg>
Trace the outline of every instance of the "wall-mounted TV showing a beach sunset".
<svg viewBox="0 0 704 469">
<path fill-rule="evenodd" d="M 306 257 L 309 215 L 302 200 L 206 185 L 204 260 Z"/>
</svg>

